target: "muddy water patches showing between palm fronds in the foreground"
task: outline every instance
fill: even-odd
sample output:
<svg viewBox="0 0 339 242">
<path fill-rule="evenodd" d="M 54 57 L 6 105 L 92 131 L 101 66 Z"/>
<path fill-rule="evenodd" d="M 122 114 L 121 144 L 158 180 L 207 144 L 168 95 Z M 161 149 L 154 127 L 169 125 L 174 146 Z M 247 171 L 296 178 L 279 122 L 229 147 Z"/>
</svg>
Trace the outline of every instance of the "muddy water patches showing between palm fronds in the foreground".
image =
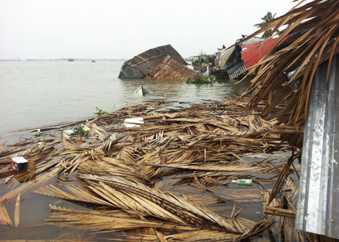
<svg viewBox="0 0 339 242">
<path fill-rule="evenodd" d="M 287 160 L 289 153 L 280 153 L 279 157 L 276 157 L 277 163 L 282 160 Z M 262 157 L 256 158 L 255 156 L 246 158 L 248 162 L 257 162 L 262 160 Z M 276 174 L 252 174 L 256 176 L 257 179 L 270 179 Z M 218 186 L 220 189 L 220 193 L 217 194 L 215 198 L 222 198 L 223 194 L 228 194 L 228 192 L 243 194 L 244 191 L 253 194 L 253 197 L 257 197 L 256 201 L 246 202 L 246 201 L 235 201 L 232 203 L 231 201 L 221 201 L 219 203 L 215 203 L 215 201 L 210 202 L 210 199 L 214 199 L 214 196 L 211 196 L 209 192 L 204 192 L 201 190 L 201 187 L 192 184 L 187 185 L 176 185 L 176 183 L 180 180 L 179 176 L 165 176 L 163 180 L 156 183 L 156 188 L 164 191 L 171 191 L 177 194 L 185 194 L 186 196 L 195 196 L 198 198 L 205 198 L 205 201 L 199 203 L 199 205 L 205 205 L 209 210 L 216 212 L 221 216 L 229 216 L 232 212 L 233 206 L 236 203 L 236 211 L 241 209 L 239 213 L 239 217 L 248 218 L 250 220 L 259 222 L 260 219 L 264 216 L 262 210 L 262 202 L 259 200 L 260 195 L 260 187 L 257 184 L 253 184 L 250 186 L 244 185 L 235 185 L 228 184 L 225 186 Z M 37 178 L 39 179 L 39 178 Z M 53 178 L 52 184 L 56 184 L 56 179 Z M 257 180 L 256 179 L 256 180 Z M 68 185 L 73 184 L 72 180 L 76 180 L 75 177 L 71 177 L 70 181 L 67 182 Z M 35 183 L 37 180 L 29 181 L 28 183 Z M 75 183 L 74 183 L 75 184 Z M 0 180 L 0 196 L 6 194 L 13 189 L 21 185 L 15 178 L 12 178 L 10 182 L 6 185 L 4 184 L 4 179 Z M 272 189 L 273 183 L 265 183 L 263 182 L 267 189 Z M 210 189 L 214 189 L 214 187 L 210 187 Z M 214 193 L 215 194 L 215 193 Z M 8 210 L 8 214 L 14 223 L 15 218 L 15 200 L 10 201 L 10 203 L 6 203 L 5 207 Z M 58 198 L 53 198 L 50 196 L 44 196 L 41 194 L 30 193 L 27 196 L 21 195 L 21 204 L 20 204 L 20 222 L 19 227 L 11 227 L 9 225 L 1 225 L 0 224 L 0 241 L 2 240 L 14 240 L 14 239 L 35 239 L 35 240 L 50 240 L 50 239 L 59 239 L 61 241 L 71 240 L 71 239 L 84 239 L 84 241 L 110 241 L 109 239 L 122 239 L 123 235 L 129 235 L 129 232 L 105 232 L 95 234 L 92 231 L 86 230 L 75 230 L 68 229 L 65 227 L 57 227 L 54 225 L 48 225 L 48 223 L 44 223 L 46 219 L 51 215 L 51 209 L 49 207 L 50 204 L 58 205 L 60 207 L 73 208 L 75 210 L 89 210 L 89 205 L 86 204 L 75 204 L 68 201 L 63 201 Z M 278 229 L 279 224 L 276 223 L 273 227 Z M 268 231 L 266 230 L 262 233 L 266 239 L 269 239 L 270 236 Z M 281 234 L 278 232 L 275 234 L 276 241 L 280 241 Z M 266 241 L 275 241 L 266 240 Z"/>
</svg>

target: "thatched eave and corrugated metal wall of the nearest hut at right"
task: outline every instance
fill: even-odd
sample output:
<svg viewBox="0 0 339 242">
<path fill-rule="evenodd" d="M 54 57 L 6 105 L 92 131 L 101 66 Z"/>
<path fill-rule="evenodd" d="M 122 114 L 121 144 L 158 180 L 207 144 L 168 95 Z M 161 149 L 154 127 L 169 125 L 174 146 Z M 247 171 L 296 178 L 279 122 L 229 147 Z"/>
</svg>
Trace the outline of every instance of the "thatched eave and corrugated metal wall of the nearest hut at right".
<svg viewBox="0 0 339 242">
<path fill-rule="evenodd" d="M 268 97 L 262 117 L 277 104 L 287 102 L 275 116 L 285 129 L 281 132 L 282 140 L 299 149 L 286 163 L 286 172 L 277 179 L 268 203 L 277 194 L 282 195 L 278 190 L 286 181 L 287 170 L 295 157 L 301 157 L 297 215 L 291 224 L 295 224 L 296 230 L 320 234 L 320 241 L 334 241 L 324 236 L 339 239 L 338 7 L 338 0 L 311 1 L 253 33 L 250 37 L 272 30 L 268 36 L 271 37 L 275 30 L 286 26 L 260 64 L 250 71 L 257 75 L 244 93 L 251 95 L 252 108 Z M 282 41 L 284 46 L 276 50 Z M 289 73 L 292 74 L 287 78 Z M 273 95 L 274 91 L 279 95 Z M 302 128 L 304 132 L 300 132 Z"/>
</svg>

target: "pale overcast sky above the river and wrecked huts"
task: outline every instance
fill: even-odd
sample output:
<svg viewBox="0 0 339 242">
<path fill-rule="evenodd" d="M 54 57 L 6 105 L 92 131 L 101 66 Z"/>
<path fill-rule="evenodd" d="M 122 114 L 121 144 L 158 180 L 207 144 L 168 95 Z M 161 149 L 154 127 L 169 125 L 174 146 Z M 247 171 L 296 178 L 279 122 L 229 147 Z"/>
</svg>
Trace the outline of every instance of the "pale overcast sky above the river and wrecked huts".
<svg viewBox="0 0 339 242">
<path fill-rule="evenodd" d="M 214 53 L 292 0 L 0 0 L 0 59 L 126 58 L 172 44 Z"/>
</svg>

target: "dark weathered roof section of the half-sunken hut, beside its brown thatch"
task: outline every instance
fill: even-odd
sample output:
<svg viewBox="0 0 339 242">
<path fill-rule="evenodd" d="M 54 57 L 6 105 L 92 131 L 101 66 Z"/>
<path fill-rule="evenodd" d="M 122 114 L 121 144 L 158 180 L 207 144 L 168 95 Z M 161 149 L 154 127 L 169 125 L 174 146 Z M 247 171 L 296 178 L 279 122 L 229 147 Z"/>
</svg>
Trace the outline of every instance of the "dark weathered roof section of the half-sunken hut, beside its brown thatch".
<svg viewBox="0 0 339 242">
<path fill-rule="evenodd" d="M 149 49 L 122 65 L 118 78 L 143 79 L 152 77 L 153 71 L 166 57 L 174 59 L 178 64 L 187 66 L 185 59 L 170 45 Z"/>
</svg>

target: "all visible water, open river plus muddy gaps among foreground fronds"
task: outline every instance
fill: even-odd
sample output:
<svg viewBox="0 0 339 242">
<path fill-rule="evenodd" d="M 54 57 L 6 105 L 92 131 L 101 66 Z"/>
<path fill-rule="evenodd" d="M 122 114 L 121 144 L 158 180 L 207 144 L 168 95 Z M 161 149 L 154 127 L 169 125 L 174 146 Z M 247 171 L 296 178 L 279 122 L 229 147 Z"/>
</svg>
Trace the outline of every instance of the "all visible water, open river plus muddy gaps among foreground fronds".
<svg viewBox="0 0 339 242">
<path fill-rule="evenodd" d="M 122 62 L 0 62 L 0 133 L 7 133 L 25 127 L 76 120 L 93 115 L 95 106 L 113 111 L 125 104 L 172 100 L 178 102 L 199 102 L 221 100 L 226 93 L 242 93 L 247 84 L 235 85 L 235 80 L 216 82 L 213 85 L 196 86 L 185 81 L 119 80 L 118 71 Z M 149 95 L 134 94 L 143 85 Z M 268 177 L 263 177 L 268 178 Z M 75 179 L 75 178 L 74 178 Z M 165 177 L 158 188 L 180 194 L 204 196 L 204 192 L 192 185 L 175 186 L 178 179 Z M 28 183 L 35 183 L 35 180 Z M 56 180 L 53 180 L 56 183 Z M 21 185 L 15 178 L 4 183 L 0 180 L 0 196 Z M 271 188 L 273 185 L 268 184 Z M 241 193 L 244 187 L 224 187 Z M 260 194 L 259 186 L 246 187 L 254 194 Z M 90 231 L 59 228 L 44 223 L 51 214 L 49 204 L 86 210 L 85 207 L 62 201 L 58 198 L 30 193 L 21 197 L 20 222 L 18 227 L 0 224 L 0 240 L 5 239 L 86 239 L 122 238 L 127 232 L 93 234 Z M 229 215 L 234 203 L 223 202 L 205 206 L 220 215 Z M 15 200 L 5 204 L 14 223 Z M 260 221 L 262 203 L 238 201 L 239 216 Z M 264 236 L 268 238 L 267 232 Z M 104 240 L 103 240 L 104 241 Z"/>
</svg>

